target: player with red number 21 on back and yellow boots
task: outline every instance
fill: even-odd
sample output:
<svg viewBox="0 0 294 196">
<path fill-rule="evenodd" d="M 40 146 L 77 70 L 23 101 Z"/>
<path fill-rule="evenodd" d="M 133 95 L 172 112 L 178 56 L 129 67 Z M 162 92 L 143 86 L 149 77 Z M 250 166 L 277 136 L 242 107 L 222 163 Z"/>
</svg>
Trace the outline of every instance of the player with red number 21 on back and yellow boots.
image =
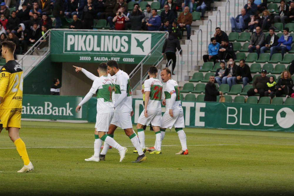
<svg viewBox="0 0 294 196">
<path fill-rule="evenodd" d="M 149 79 L 144 82 L 145 105 L 137 124 L 141 148 L 146 151 L 144 125 L 152 124 L 156 136 L 156 149 L 150 154 L 161 154 L 161 94 L 162 83 L 156 78 L 157 68 L 151 66 L 148 71 Z M 133 151 L 137 153 L 137 150 Z"/>
</svg>

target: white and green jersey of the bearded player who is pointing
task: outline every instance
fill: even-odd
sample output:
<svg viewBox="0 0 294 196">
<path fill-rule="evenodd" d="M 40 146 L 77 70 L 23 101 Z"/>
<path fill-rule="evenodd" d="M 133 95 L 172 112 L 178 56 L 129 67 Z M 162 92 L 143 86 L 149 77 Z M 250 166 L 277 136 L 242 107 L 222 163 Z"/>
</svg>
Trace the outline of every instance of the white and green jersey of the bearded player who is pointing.
<svg viewBox="0 0 294 196">
<path fill-rule="evenodd" d="M 126 91 L 127 96 L 123 101 L 115 108 L 116 113 L 131 112 L 132 108 L 132 89 L 130 83 L 130 77 L 122 70 L 119 70 L 115 74 L 116 81 L 114 83 L 114 97 L 118 100 L 121 96 L 121 91 Z"/>
</svg>

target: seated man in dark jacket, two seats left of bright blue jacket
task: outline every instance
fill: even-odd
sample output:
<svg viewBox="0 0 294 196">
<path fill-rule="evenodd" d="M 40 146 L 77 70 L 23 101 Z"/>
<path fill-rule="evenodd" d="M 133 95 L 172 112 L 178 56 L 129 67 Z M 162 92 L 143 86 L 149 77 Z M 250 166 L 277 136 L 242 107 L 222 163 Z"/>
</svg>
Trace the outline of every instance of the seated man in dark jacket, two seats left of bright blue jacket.
<svg viewBox="0 0 294 196">
<path fill-rule="evenodd" d="M 253 50 L 256 50 L 257 55 L 259 56 L 260 48 L 264 46 L 265 34 L 261 32 L 261 28 L 256 27 L 256 32 L 252 33 L 252 36 L 249 41 L 248 52 L 253 53 Z"/>
</svg>

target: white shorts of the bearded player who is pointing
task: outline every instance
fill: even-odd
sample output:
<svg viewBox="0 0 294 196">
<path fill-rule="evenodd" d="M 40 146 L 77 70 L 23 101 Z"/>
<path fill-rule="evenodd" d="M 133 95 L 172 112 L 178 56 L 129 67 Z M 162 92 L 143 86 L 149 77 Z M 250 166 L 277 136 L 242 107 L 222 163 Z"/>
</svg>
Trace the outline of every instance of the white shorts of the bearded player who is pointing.
<svg viewBox="0 0 294 196">
<path fill-rule="evenodd" d="M 116 113 L 114 112 L 111 123 L 122 129 L 133 128 L 131 112 Z"/>
</svg>

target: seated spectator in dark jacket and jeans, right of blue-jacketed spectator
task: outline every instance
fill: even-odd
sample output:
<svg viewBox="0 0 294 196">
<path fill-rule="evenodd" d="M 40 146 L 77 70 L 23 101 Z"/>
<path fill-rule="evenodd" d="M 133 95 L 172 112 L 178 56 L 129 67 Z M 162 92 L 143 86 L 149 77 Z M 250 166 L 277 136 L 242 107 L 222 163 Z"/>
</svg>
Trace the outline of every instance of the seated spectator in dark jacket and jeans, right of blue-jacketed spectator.
<svg viewBox="0 0 294 196">
<path fill-rule="evenodd" d="M 225 70 L 226 76 L 223 77 L 222 84 L 228 83 L 231 89 L 232 85 L 236 84 L 238 69 L 239 69 L 239 66 L 235 64 L 234 59 L 230 58 L 228 61 L 228 66 Z"/>
</svg>

